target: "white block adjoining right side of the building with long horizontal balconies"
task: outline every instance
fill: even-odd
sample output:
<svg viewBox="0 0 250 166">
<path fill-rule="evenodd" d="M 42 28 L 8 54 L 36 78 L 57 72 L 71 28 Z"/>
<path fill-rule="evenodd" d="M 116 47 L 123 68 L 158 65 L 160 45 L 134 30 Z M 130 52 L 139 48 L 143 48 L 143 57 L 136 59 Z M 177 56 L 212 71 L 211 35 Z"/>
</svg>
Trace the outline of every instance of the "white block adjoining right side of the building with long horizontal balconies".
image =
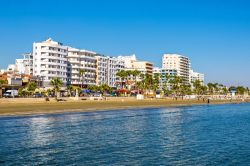
<svg viewBox="0 0 250 166">
<path fill-rule="evenodd" d="M 111 87 L 116 87 L 116 73 L 124 69 L 124 61 L 119 58 L 102 55 L 98 55 L 96 58 L 96 84 L 107 84 Z"/>
</svg>

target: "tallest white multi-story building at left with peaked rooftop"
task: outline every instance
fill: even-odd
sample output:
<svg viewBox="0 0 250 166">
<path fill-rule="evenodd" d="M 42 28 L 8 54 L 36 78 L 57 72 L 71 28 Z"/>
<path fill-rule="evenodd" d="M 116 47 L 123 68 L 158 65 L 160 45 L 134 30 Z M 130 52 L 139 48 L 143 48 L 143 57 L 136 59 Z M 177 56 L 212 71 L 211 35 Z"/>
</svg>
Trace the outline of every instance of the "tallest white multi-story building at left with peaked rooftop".
<svg viewBox="0 0 250 166">
<path fill-rule="evenodd" d="M 33 44 L 33 75 L 42 78 L 43 86 L 57 77 L 66 84 L 68 47 L 49 38 Z"/>
</svg>

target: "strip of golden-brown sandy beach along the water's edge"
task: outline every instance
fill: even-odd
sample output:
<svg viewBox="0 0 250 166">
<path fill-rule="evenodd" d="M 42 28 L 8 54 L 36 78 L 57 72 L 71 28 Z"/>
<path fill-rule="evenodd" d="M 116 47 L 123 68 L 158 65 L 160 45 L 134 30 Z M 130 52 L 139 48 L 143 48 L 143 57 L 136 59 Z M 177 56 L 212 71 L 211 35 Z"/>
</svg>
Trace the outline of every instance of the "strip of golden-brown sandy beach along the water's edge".
<svg viewBox="0 0 250 166">
<path fill-rule="evenodd" d="M 29 101 L 27 101 L 29 100 Z M 33 116 L 46 114 L 81 113 L 113 111 L 136 108 L 161 108 L 161 107 L 181 107 L 195 105 L 214 104 L 239 104 L 248 103 L 250 100 L 212 100 L 209 104 L 202 100 L 173 100 L 173 99 L 145 99 L 135 100 L 110 99 L 105 101 L 66 101 L 66 102 L 45 102 L 41 99 L 0 99 L 0 117 Z"/>
</svg>

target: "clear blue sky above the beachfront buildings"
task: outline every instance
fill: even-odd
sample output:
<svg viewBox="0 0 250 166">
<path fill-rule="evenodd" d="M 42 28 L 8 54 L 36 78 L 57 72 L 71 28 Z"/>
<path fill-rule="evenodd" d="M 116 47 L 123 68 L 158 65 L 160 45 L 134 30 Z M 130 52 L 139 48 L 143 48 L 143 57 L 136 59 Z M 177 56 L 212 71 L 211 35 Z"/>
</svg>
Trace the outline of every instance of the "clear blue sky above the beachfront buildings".
<svg viewBox="0 0 250 166">
<path fill-rule="evenodd" d="M 206 82 L 250 86 L 247 0 L 3 0 L 0 68 L 48 37 L 161 66 L 163 53 L 190 57 Z"/>
</svg>

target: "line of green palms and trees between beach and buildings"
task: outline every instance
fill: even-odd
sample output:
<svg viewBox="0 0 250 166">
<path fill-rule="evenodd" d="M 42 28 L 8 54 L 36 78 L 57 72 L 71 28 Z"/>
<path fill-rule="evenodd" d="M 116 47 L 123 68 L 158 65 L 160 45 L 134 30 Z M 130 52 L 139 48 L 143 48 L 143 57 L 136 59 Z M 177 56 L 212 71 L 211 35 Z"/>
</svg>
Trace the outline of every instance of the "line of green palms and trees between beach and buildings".
<svg viewBox="0 0 250 166">
<path fill-rule="evenodd" d="M 72 92 L 76 90 L 81 91 L 82 89 L 87 89 L 100 93 L 111 93 L 115 89 L 103 84 L 100 86 L 89 85 L 83 88 L 84 84 L 84 70 L 79 72 L 81 76 L 81 86 L 68 85 L 67 91 L 69 96 Z M 142 91 L 156 91 L 160 90 L 167 96 L 185 96 L 185 95 L 227 95 L 232 90 L 236 91 L 237 94 L 243 95 L 245 93 L 249 94 L 249 88 L 243 86 L 231 86 L 226 87 L 219 83 L 208 83 L 204 84 L 200 80 L 195 80 L 191 84 L 187 83 L 182 77 L 175 75 L 165 75 L 165 74 L 143 74 L 138 70 L 120 70 L 117 72 L 117 89 L 126 89 L 129 91 L 137 90 L 137 92 Z M 19 89 L 20 96 L 32 96 L 34 93 L 42 93 L 44 96 L 49 96 L 54 94 L 55 96 L 60 91 L 63 86 L 63 81 L 59 78 L 54 78 L 50 81 L 53 89 L 38 90 L 38 85 L 36 82 L 30 82 L 26 87 Z"/>
</svg>

